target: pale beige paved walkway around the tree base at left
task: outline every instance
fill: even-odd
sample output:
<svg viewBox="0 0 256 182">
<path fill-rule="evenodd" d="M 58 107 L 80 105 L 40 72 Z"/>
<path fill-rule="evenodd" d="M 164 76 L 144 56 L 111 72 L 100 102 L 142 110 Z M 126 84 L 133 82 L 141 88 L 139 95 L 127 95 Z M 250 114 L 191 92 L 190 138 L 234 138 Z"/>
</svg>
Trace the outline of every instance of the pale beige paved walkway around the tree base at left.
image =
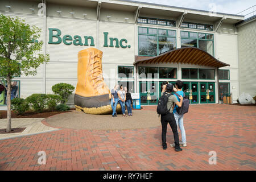
<svg viewBox="0 0 256 182">
<path fill-rule="evenodd" d="M 0 140 L 21 137 L 24 135 L 38 134 L 47 131 L 56 131 L 57 129 L 43 125 L 41 122 L 44 118 L 19 118 L 11 119 L 11 127 L 26 127 L 22 133 L 10 133 L 10 134 L 0 134 Z M 0 129 L 6 129 L 7 119 L 0 119 Z"/>
</svg>

